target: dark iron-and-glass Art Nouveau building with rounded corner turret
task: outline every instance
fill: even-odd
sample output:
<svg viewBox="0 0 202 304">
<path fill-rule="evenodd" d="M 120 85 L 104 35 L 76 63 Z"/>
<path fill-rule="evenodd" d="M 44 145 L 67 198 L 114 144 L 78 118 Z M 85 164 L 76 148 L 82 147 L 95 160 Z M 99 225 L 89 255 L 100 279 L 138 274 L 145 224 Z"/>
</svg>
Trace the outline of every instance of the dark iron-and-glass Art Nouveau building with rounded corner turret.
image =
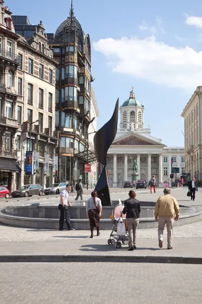
<svg viewBox="0 0 202 304">
<path fill-rule="evenodd" d="M 56 130 L 60 144 L 56 149 L 58 181 L 86 182 L 87 134 L 91 117 L 91 46 L 74 16 L 62 22 L 54 34 L 48 34 L 56 67 Z M 89 158 L 88 162 L 92 162 Z"/>
</svg>

